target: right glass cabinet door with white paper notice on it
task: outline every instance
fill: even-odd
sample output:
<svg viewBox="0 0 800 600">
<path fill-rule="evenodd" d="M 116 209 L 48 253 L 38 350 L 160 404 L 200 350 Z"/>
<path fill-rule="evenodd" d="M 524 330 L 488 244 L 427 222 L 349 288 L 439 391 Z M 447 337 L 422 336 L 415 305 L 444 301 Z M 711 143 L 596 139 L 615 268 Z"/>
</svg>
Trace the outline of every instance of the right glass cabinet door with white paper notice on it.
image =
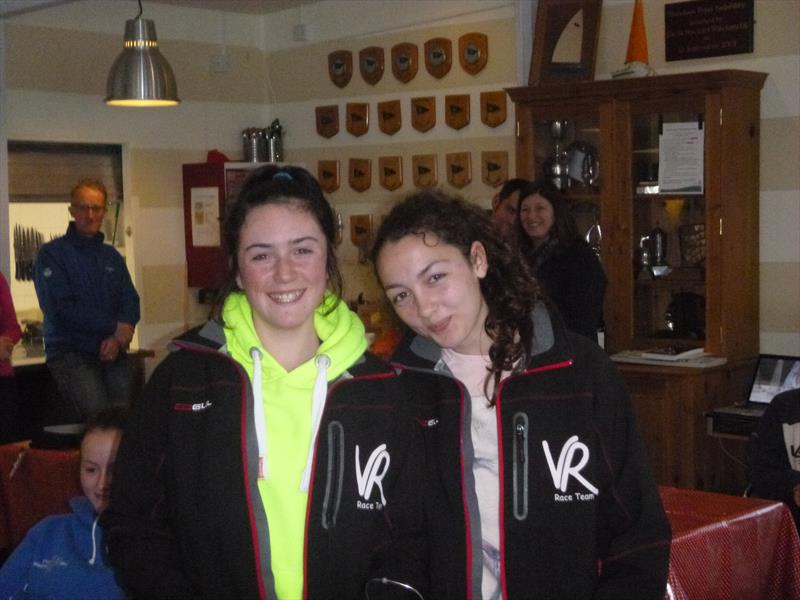
<svg viewBox="0 0 800 600">
<path fill-rule="evenodd" d="M 640 348 L 704 346 L 703 114 L 634 114 L 633 336 Z"/>
</svg>

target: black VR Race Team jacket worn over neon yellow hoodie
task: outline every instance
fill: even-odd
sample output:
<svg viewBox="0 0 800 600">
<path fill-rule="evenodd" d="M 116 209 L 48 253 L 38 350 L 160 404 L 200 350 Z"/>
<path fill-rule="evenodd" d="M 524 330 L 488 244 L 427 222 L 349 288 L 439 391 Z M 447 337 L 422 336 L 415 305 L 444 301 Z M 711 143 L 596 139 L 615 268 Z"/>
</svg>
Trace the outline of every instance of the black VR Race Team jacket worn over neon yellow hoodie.
<svg viewBox="0 0 800 600">
<path fill-rule="evenodd" d="M 190 336 L 153 373 L 116 460 L 102 517 L 110 560 L 137 598 L 274 598 L 268 524 L 258 493 L 253 395 L 218 344 Z M 309 488 L 308 598 L 363 598 L 369 578 L 427 593 L 423 457 L 400 377 L 366 354 L 329 385 Z M 386 444 L 379 486 L 362 485 Z"/>
</svg>

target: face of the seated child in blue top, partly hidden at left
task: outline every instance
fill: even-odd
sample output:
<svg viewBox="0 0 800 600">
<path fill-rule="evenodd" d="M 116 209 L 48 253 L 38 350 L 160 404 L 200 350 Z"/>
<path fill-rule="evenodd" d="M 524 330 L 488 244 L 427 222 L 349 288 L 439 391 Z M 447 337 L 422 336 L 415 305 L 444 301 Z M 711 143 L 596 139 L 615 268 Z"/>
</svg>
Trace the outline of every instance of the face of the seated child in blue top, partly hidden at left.
<svg viewBox="0 0 800 600">
<path fill-rule="evenodd" d="M 81 489 L 98 513 L 108 506 L 120 437 L 119 429 L 95 429 L 81 444 Z"/>
</svg>

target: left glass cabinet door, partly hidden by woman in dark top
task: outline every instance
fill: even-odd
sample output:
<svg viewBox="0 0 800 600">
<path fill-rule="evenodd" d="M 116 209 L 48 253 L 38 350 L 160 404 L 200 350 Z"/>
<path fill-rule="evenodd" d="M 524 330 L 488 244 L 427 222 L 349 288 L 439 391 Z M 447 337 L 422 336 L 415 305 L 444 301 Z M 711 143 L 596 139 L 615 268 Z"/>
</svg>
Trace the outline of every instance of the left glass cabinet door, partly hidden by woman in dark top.
<svg viewBox="0 0 800 600">
<path fill-rule="evenodd" d="M 533 129 L 535 179 L 561 190 L 578 230 L 600 256 L 602 157 L 596 112 L 538 115 Z"/>
</svg>

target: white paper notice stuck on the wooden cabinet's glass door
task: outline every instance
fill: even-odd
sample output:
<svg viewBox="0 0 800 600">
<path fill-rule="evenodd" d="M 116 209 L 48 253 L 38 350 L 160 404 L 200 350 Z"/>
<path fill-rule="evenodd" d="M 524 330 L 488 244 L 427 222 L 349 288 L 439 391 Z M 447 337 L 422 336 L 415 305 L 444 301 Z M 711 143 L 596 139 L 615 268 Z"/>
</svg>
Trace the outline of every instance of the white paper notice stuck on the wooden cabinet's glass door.
<svg viewBox="0 0 800 600">
<path fill-rule="evenodd" d="M 703 193 L 703 129 L 697 121 L 664 123 L 658 155 L 659 192 Z"/>
</svg>

